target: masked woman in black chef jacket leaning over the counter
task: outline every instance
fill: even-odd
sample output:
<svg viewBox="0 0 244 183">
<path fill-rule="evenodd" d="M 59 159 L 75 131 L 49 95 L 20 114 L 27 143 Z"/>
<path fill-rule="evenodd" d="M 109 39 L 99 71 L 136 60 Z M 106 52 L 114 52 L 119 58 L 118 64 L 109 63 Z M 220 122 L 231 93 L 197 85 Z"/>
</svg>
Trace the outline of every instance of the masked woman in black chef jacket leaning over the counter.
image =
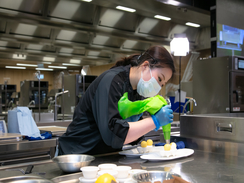
<svg viewBox="0 0 244 183">
<path fill-rule="evenodd" d="M 118 101 L 125 92 L 130 101 L 157 95 L 174 72 L 172 56 L 161 46 L 117 61 L 91 83 L 76 106 L 73 121 L 59 138 L 59 155 L 119 151 L 158 125 L 171 123 L 170 106 L 162 107 L 153 118 L 128 122 L 118 111 Z"/>
</svg>

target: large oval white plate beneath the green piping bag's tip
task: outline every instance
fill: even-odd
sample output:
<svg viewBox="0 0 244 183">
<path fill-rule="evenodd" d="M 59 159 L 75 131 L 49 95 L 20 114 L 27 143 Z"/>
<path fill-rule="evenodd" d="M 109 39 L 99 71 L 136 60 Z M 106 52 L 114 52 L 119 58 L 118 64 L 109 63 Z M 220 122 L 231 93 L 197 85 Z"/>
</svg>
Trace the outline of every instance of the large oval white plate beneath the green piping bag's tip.
<svg viewBox="0 0 244 183">
<path fill-rule="evenodd" d="M 193 149 L 178 149 L 177 150 L 177 155 L 176 156 L 170 156 L 170 157 L 163 157 L 160 156 L 160 153 L 150 153 L 150 154 L 145 154 L 140 156 L 141 159 L 146 159 L 149 161 L 165 161 L 165 160 L 173 160 L 173 159 L 178 159 L 178 158 L 183 158 L 190 156 L 194 153 Z"/>
</svg>

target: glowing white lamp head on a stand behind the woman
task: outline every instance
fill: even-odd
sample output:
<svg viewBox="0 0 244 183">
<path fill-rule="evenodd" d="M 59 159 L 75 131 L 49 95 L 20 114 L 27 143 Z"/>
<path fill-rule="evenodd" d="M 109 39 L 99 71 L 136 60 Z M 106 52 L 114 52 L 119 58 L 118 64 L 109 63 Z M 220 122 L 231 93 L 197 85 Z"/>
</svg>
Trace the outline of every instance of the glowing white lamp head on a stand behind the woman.
<svg viewBox="0 0 244 183">
<path fill-rule="evenodd" d="M 175 35 L 170 42 L 170 50 L 174 56 L 186 56 L 189 52 L 189 41 L 185 34 Z"/>
</svg>

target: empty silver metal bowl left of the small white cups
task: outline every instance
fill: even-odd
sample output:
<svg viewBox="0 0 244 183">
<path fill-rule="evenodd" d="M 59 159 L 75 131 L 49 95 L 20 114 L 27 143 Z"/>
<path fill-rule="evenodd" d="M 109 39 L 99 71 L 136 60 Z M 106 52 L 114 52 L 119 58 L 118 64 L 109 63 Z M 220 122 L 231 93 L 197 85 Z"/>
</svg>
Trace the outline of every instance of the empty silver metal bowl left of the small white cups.
<svg viewBox="0 0 244 183">
<path fill-rule="evenodd" d="M 64 172 L 73 173 L 79 172 L 81 167 L 88 166 L 94 159 L 94 156 L 86 154 L 68 154 L 53 158 L 53 162 Z"/>
</svg>

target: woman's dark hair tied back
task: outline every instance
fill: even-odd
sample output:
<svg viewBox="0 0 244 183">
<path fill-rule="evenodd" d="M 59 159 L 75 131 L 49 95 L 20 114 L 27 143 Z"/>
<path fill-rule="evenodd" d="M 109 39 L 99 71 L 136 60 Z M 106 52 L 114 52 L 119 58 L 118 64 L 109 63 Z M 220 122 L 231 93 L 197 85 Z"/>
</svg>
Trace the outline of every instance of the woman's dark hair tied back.
<svg viewBox="0 0 244 183">
<path fill-rule="evenodd" d="M 175 65 L 172 55 L 162 46 L 151 46 L 142 54 L 133 54 L 122 58 L 115 63 L 114 67 L 131 65 L 132 67 L 141 65 L 144 61 L 149 62 L 150 68 L 168 67 L 175 72 Z M 114 68 L 112 67 L 112 68 Z"/>
</svg>

